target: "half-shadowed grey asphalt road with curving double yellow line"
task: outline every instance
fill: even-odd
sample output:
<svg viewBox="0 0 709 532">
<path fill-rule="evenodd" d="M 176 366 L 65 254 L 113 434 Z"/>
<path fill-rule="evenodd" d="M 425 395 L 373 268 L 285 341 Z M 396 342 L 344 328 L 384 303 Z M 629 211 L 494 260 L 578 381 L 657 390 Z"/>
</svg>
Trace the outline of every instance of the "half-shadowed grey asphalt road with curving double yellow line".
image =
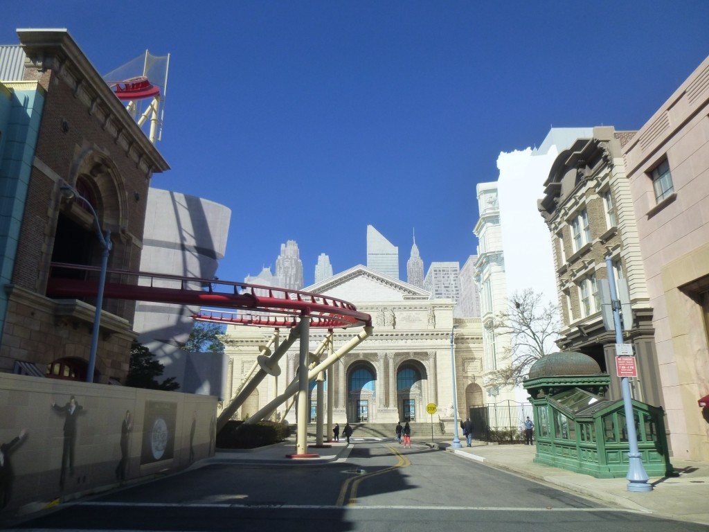
<svg viewBox="0 0 709 532">
<path fill-rule="evenodd" d="M 583 499 L 439 450 L 357 443 L 345 462 L 211 464 L 64 504 L 17 530 L 707 531 Z"/>
</svg>

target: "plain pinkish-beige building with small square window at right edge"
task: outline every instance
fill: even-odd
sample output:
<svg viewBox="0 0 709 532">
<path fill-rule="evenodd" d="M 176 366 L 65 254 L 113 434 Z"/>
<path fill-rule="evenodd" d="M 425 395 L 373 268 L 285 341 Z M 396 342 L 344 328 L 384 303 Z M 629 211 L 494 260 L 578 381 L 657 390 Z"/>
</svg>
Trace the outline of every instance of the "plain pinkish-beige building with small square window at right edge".
<svg viewBox="0 0 709 532">
<path fill-rule="evenodd" d="M 709 460 L 709 57 L 623 149 L 674 456 Z"/>
</svg>

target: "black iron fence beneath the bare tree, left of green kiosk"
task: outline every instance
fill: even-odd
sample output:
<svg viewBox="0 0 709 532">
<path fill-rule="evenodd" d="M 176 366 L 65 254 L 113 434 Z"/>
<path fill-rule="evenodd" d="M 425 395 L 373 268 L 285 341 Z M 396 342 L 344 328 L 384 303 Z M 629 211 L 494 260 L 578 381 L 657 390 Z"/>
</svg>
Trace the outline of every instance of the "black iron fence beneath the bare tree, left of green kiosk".
<svg viewBox="0 0 709 532">
<path fill-rule="evenodd" d="M 532 418 L 532 405 L 517 401 L 474 406 L 470 409 L 473 439 L 495 443 L 524 443 L 524 421 Z"/>
</svg>

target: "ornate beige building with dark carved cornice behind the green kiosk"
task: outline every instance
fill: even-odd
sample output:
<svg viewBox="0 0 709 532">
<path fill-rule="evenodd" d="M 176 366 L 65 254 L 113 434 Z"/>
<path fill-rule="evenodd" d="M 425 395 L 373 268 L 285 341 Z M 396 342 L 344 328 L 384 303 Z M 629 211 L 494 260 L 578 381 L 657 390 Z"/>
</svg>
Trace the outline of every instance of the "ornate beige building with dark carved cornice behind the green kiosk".
<svg viewBox="0 0 709 532">
<path fill-rule="evenodd" d="M 615 369 L 615 329 L 604 326 L 601 313 L 601 280 L 608 280 L 610 256 L 616 284 L 627 283 L 623 341 L 632 344 L 637 356 L 633 397 L 661 406 L 652 309 L 623 164 L 622 147 L 633 134 L 596 127 L 591 138 L 579 138 L 559 153 L 539 209 L 552 236 L 562 309 L 557 344 L 596 360 L 612 377 L 610 398 L 622 397 Z"/>
</svg>

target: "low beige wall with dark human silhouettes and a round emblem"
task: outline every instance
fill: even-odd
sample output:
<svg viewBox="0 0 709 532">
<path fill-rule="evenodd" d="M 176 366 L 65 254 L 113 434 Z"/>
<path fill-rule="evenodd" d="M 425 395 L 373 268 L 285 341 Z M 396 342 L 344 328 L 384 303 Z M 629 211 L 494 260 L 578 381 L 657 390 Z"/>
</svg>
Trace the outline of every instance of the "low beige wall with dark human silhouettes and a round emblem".
<svg viewBox="0 0 709 532">
<path fill-rule="evenodd" d="M 0 374 L 0 516 L 214 453 L 216 397 Z"/>
</svg>

